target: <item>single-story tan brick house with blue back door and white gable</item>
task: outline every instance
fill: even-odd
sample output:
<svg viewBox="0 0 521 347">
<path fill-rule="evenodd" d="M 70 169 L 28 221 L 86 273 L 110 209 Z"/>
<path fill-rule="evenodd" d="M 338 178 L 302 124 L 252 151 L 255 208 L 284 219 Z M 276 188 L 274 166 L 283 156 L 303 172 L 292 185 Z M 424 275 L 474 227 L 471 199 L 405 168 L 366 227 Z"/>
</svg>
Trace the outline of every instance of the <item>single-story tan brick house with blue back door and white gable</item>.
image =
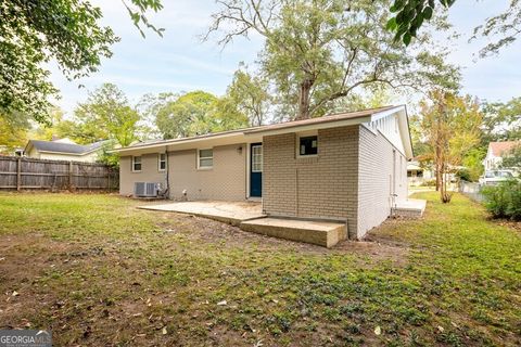
<svg viewBox="0 0 521 347">
<path fill-rule="evenodd" d="M 260 200 L 272 217 L 346 222 L 363 237 L 407 200 L 412 147 L 405 106 L 387 106 L 192 138 L 119 153 L 119 190 L 160 182 L 171 200 Z"/>
</svg>

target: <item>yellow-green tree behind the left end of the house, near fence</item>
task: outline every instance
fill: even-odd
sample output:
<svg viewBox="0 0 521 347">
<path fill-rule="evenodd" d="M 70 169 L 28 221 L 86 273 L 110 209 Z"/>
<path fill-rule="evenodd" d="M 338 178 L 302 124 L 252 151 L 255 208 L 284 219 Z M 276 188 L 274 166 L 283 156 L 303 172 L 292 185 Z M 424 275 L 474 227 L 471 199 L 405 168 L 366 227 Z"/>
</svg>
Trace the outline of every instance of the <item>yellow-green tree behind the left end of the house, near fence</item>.
<svg viewBox="0 0 521 347">
<path fill-rule="evenodd" d="M 104 83 L 75 110 L 84 142 L 112 139 L 127 146 L 138 140 L 138 112 L 115 86 Z"/>
</svg>

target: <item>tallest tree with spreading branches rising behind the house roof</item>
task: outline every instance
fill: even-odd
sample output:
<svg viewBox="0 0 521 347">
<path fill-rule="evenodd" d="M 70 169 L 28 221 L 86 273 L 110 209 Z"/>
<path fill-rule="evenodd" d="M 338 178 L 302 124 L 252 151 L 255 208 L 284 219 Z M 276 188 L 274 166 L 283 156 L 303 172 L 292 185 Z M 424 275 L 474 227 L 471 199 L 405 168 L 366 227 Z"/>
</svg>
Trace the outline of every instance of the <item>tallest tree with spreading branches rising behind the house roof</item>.
<svg viewBox="0 0 521 347">
<path fill-rule="evenodd" d="M 296 104 L 294 118 L 323 115 L 333 102 L 370 85 L 456 88 L 459 72 L 444 63 L 429 35 L 414 50 L 393 40 L 389 1 L 220 0 L 206 38 L 226 46 L 256 33 L 265 38 L 262 72 L 279 100 Z M 416 52 L 416 53 L 414 53 Z"/>
</svg>

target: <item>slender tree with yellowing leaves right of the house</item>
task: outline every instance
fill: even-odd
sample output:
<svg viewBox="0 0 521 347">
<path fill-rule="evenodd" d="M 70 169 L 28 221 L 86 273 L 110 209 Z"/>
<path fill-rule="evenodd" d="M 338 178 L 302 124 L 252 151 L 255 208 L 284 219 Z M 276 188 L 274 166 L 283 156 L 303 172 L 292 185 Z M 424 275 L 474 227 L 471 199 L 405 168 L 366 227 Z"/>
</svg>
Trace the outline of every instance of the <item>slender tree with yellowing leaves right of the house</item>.
<svg viewBox="0 0 521 347">
<path fill-rule="evenodd" d="M 470 97 L 457 97 L 442 90 L 430 93 L 421 107 L 421 129 L 430 146 L 441 201 L 450 202 L 447 174 L 454 174 L 466 154 L 480 142 L 483 116 Z"/>
</svg>

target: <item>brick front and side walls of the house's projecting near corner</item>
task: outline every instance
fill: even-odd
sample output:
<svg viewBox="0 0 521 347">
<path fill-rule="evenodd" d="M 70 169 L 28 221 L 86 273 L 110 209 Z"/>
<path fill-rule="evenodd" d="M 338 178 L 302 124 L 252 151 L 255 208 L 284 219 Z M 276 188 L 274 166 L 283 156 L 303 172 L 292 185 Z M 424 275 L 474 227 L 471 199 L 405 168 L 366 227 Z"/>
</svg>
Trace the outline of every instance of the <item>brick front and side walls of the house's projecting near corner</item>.
<svg viewBox="0 0 521 347">
<path fill-rule="evenodd" d="M 318 156 L 309 158 L 296 157 L 296 133 L 264 137 L 268 215 L 343 220 L 350 239 L 361 239 L 389 217 L 393 179 L 397 198 L 407 198 L 406 158 L 380 132 L 363 126 L 319 130 Z"/>
</svg>

